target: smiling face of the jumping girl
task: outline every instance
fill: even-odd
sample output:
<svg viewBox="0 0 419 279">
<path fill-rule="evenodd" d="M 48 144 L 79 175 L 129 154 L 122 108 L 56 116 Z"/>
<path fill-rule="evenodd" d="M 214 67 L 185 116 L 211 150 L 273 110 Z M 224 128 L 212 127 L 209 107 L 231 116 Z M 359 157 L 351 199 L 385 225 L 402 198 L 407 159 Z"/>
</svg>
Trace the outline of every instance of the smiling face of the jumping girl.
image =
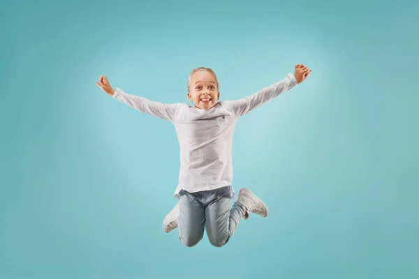
<svg viewBox="0 0 419 279">
<path fill-rule="evenodd" d="M 210 110 L 216 104 L 219 96 L 219 89 L 212 73 L 206 70 L 193 73 L 189 84 L 188 98 L 196 107 L 202 110 Z"/>
</svg>

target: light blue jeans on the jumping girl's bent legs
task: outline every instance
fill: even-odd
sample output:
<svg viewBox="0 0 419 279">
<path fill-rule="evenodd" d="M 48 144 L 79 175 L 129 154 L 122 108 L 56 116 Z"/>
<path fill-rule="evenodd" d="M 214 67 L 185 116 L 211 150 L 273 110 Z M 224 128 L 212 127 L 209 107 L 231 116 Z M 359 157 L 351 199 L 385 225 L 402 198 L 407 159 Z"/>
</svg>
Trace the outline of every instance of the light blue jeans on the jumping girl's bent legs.
<svg viewBox="0 0 419 279">
<path fill-rule="evenodd" d="M 230 209 L 228 187 L 179 193 L 179 239 L 184 246 L 196 246 L 203 239 L 204 227 L 213 246 L 224 246 L 242 220 L 245 209 L 234 204 Z"/>
</svg>

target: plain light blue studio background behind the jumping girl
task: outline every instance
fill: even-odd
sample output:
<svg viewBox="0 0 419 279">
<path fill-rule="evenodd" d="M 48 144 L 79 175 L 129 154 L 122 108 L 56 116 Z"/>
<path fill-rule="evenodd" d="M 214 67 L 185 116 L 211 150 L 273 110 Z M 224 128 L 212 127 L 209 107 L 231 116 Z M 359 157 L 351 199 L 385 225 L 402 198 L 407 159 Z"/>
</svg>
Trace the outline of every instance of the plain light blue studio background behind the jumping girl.
<svg viewBox="0 0 419 279">
<path fill-rule="evenodd" d="M 416 2 L 416 3 L 415 3 Z M 419 278 L 417 1 L 2 1 L 0 278 Z M 221 100 L 293 73 L 244 116 L 234 186 L 270 216 L 186 248 L 172 125 L 96 86 Z"/>
</svg>

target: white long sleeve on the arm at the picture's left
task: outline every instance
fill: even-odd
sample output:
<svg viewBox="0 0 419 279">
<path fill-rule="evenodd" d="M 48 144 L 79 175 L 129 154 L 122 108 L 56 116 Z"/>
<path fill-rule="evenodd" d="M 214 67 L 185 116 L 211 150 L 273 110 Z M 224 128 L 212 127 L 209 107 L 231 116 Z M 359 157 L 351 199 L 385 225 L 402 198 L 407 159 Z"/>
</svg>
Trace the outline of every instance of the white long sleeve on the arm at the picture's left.
<svg viewBox="0 0 419 279">
<path fill-rule="evenodd" d="M 153 100 L 148 100 L 140 96 L 130 95 L 119 89 L 115 89 L 112 98 L 132 107 L 135 110 L 159 117 L 172 122 L 175 118 L 178 104 L 163 104 Z"/>
</svg>

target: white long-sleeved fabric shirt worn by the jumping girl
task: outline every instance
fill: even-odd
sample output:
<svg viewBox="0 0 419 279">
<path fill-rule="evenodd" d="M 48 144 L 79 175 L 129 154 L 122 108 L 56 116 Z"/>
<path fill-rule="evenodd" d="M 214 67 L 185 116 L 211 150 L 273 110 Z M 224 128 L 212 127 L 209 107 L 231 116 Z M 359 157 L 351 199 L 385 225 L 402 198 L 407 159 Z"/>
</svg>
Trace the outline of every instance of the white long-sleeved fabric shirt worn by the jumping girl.
<svg viewBox="0 0 419 279">
<path fill-rule="evenodd" d="M 244 114 L 297 84 L 292 73 L 277 83 L 238 100 L 221 100 L 210 110 L 191 107 L 187 103 L 159 103 L 115 89 L 112 98 L 135 110 L 170 121 L 180 146 L 179 191 L 194 193 L 230 186 L 233 189 L 232 147 L 235 123 Z"/>
</svg>

